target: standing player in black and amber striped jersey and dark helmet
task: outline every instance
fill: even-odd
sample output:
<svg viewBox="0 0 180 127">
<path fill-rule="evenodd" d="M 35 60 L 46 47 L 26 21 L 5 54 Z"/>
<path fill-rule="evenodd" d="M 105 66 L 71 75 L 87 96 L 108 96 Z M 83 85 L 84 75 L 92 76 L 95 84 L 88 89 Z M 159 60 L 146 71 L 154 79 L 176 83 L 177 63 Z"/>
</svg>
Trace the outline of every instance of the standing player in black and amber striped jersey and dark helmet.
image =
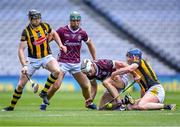
<svg viewBox="0 0 180 127">
<path fill-rule="evenodd" d="M 4 108 L 3 111 L 14 110 L 17 101 L 21 98 L 23 88 L 28 81 L 27 75 L 31 77 L 40 67 L 44 67 L 51 72 L 47 78 L 44 89 L 40 93 L 40 97 L 43 99 L 44 103 L 48 103 L 47 91 L 56 81 L 60 72 L 57 60 L 51 55 L 48 41 L 49 35 L 54 37 L 60 50 L 63 50 L 64 52 L 67 50 L 61 43 L 56 31 L 54 31 L 49 24 L 41 22 L 40 12 L 30 10 L 28 18 L 30 23 L 22 32 L 21 42 L 18 48 L 18 56 L 22 65 L 20 79 L 14 90 L 10 106 Z M 26 45 L 28 48 L 28 61 L 24 54 Z M 35 88 L 37 87 L 35 86 Z"/>
</svg>

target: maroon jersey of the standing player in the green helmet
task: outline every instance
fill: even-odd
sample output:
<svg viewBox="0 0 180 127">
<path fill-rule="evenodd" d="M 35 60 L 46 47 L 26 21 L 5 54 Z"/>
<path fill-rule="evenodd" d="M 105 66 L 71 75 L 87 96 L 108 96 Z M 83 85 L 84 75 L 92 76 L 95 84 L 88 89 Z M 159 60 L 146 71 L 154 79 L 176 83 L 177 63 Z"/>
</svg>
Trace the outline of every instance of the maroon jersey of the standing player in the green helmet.
<svg viewBox="0 0 180 127">
<path fill-rule="evenodd" d="M 57 30 L 63 45 L 67 47 L 67 53 L 61 52 L 58 61 L 63 63 L 79 63 L 82 41 L 88 40 L 87 33 L 79 28 L 76 31 L 70 29 L 69 25 Z"/>
</svg>

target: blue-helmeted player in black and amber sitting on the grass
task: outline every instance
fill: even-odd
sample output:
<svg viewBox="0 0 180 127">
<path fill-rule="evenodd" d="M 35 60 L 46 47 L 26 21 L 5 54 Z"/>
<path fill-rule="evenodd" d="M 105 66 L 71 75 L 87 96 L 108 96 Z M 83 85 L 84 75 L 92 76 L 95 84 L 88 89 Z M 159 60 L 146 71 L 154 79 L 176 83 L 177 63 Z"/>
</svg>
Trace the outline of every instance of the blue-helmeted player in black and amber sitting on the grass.
<svg viewBox="0 0 180 127">
<path fill-rule="evenodd" d="M 123 75 L 132 71 L 136 71 L 141 79 L 138 83 L 141 86 L 141 98 L 135 104 L 128 105 L 129 110 L 157 110 L 167 109 L 174 110 L 175 104 L 163 104 L 165 91 L 158 81 L 155 72 L 151 66 L 142 59 L 142 52 L 139 49 L 131 49 L 126 54 L 128 66 L 120 68 L 112 73 L 112 79 L 116 75 Z"/>
</svg>

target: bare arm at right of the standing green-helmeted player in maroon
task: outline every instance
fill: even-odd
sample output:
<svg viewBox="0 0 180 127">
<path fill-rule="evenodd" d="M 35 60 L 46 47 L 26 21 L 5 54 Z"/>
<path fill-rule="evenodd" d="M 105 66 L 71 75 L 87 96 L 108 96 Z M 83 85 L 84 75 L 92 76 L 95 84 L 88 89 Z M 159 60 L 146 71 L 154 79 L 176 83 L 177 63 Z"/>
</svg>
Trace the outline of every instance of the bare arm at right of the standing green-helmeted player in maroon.
<svg viewBox="0 0 180 127">
<path fill-rule="evenodd" d="M 92 40 L 89 38 L 86 42 L 87 46 L 88 46 L 88 49 L 89 49 L 89 52 L 93 58 L 93 60 L 96 60 L 96 48 L 92 42 Z"/>
</svg>

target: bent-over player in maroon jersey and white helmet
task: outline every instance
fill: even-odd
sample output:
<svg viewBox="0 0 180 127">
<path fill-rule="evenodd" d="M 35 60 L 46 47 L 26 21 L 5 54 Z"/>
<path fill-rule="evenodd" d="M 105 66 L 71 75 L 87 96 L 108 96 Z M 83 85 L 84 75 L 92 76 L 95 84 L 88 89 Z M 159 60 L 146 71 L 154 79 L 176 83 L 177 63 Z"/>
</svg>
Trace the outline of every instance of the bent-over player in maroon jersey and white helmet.
<svg viewBox="0 0 180 127">
<path fill-rule="evenodd" d="M 115 80 L 110 78 L 111 73 L 118 68 L 127 66 L 126 63 L 121 61 L 113 61 L 108 59 L 99 59 L 92 62 L 89 59 L 85 59 L 81 64 L 81 70 L 87 75 L 91 81 L 91 95 L 92 99 L 95 98 L 97 92 L 97 80 L 102 81 L 104 87 L 108 90 L 101 97 L 99 109 L 105 109 L 104 105 L 119 95 L 119 91 L 124 89 L 128 85 L 129 81 L 133 82 L 134 77 L 128 73 L 123 76 L 117 76 Z M 120 106 L 122 101 L 117 98 L 113 105 Z"/>
</svg>

